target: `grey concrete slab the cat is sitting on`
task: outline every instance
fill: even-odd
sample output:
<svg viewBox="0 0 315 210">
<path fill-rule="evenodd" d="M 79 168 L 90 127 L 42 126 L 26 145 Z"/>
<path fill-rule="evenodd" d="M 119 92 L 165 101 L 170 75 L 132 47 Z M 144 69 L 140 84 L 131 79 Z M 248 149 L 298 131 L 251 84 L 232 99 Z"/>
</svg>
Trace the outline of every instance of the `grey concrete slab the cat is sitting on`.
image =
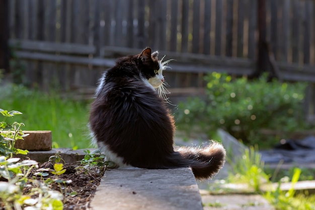
<svg viewBox="0 0 315 210">
<path fill-rule="evenodd" d="M 190 168 L 106 171 L 91 207 L 93 210 L 203 209 Z"/>
</svg>

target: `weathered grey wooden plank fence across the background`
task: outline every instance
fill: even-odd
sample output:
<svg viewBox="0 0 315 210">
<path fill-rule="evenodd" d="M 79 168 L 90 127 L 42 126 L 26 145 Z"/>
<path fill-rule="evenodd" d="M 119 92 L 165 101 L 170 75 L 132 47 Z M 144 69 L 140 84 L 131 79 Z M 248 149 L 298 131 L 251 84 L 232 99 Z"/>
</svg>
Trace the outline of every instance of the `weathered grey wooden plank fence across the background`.
<svg viewBox="0 0 315 210">
<path fill-rule="evenodd" d="M 10 0 L 10 44 L 26 82 L 95 87 L 114 58 L 145 46 L 175 59 L 173 88 L 203 74 L 250 75 L 258 58 L 259 0 Z M 315 1 L 265 0 L 266 41 L 282 80 L 315 81 Z M 13 69 L 14 70 L 14 69 Z"/>
</svg>

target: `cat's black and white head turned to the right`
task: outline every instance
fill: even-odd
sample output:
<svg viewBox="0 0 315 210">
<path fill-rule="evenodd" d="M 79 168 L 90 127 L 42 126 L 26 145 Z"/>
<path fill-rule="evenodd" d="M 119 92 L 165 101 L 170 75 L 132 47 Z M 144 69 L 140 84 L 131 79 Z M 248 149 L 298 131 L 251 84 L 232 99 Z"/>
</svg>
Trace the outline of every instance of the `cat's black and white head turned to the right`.
<svg viewBox="0 0 315 210">
<path fill-rule="evenodd" d="M 164 83 L 163 65 L 157 58 L 158 55 L 159 52 L 151 52 L 150 48 L 145 48 L 138 55 L 141 74 L 155 89 Z"/>
</svg>

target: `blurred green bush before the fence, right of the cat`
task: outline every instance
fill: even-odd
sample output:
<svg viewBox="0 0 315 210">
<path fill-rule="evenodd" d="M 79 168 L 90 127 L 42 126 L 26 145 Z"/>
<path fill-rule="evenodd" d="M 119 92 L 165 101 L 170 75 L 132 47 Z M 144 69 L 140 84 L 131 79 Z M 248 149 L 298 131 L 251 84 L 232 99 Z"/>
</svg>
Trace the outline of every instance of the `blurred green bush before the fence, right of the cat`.
<svg viewBox="0 0 315 210">
<path fill-rule="evenodd" d="M 307 127 L 302 109 L 304 83 L 267 82 L 266 76 L 252 81 L 232 79 L 218 73 L 207 75 L 205 80 L 205 99 L 190 98 L 179 104 L 175 113 L 179 129 L 197 126 L 211 135 L 223 128 L 246 144 L 265 148 Z M 279 130 L 283 135 L 268 139 L 260 132 L 263 128 Z"/>
</svg>

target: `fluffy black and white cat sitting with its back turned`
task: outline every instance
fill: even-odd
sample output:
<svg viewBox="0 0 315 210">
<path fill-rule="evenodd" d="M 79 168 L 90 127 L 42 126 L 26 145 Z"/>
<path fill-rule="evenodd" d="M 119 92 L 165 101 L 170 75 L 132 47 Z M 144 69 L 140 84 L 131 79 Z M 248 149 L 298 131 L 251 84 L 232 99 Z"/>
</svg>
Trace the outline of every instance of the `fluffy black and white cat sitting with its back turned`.
<svg viewBox="0 0 315 210">
<path fill-rule="evenodd" d="M 163 98 L 163 70 L 158 52 L 144 49 L 117 60 L 106 71 L 91 104 L 93 142 L 119 167 L 170 169 L 191 167 L 197 179 L 215 175 L 225 162 L 221 144 L 174 150 L 175 125 Z"/>
</svg>

